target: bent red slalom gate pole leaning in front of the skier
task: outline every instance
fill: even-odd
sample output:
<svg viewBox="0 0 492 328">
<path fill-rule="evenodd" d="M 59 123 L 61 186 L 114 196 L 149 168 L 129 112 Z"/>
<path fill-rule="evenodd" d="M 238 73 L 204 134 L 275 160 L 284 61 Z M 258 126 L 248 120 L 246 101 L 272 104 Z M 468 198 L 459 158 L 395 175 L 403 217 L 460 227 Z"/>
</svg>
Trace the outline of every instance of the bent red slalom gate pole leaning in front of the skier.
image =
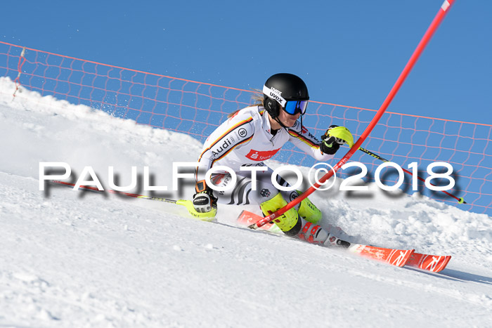
<svg viewBox="0 0 492 328">
<path fill-rule="evenodd" d="M 391 91 L 389 91 L 389 94 L 384 100 L 384 102 L 382 103 L 380 109 L 377 110 L 373 120 L 369 123 L 368 127 L 362 133 L 361 137 L 358 138 L 357 142 L 350 148 L 349 152 L 347 152 L 347 154 L 345 154 L 344 157 L 342 157 L 342 159 L 340 159 L 339 162 L 335 166 L 333 166 L 333 169 L 331 171 L 328 171 L 328 173 L 326 173 L 325 176 L 323 176 L 318 181 L 318 183 L 315 183 L 313 186 L 311 186 L 311 188 L 306 190 L 304 193 L 299 195 L 299 197 L 292 200 L 292 202 L 285 205 L 283 208 L 278 209 L 277 211 L 273 212 L 269 216 L 265 216 L 257 223 L 250 225 L 249 228 L 252 229 L 260 228 L 266 223 L 273 221 L 278 216 L 281 216 L 286 211 L 292 209 L 292 207 L 302 202 L 302 200 L 308 197 L 309 195 L 311 195 L 314 192 L 314 190 L 317 190 L 321 185 L 323 185 L 323 183 L 325 183 L 325 181 L 331 178 L 333 174 L 336 171 L 338 171 L 340 167 L 342 167 L 345 163 L 349 162 L 350 157 L 352 157 L 352 155 L 354 155 L 354 153 L 358 150 L 358 148 L 361 147 L 362 143 L 369 136 L 371 131 L 373 131 L 377 122 L 379 122 L 380 118 L 382 117 L 382 114 L 384 114 L 384 112 L 387 110 L 389 104 L 391 103 L 391 100 L 393 100 L 394 96 L 396 96 L 396 93 L 398 93 L 401 85 L 403 84 L 403 81 L 405 81 L 406 77 L 408 77 L 408 73 L 410 73 L 410 70 L 412 70 L 413 66 L 415 65 L 418 58 L 420 57 L 420 54 L 424 50 L 425 46 L 427 46 L 427 44 L 429 43 L 429 40 L 431 39 L 432 35 L 434 35 L 434 32 L 436 32 L 437 27 L 439 27 L 439 24 L 444 19 L 446 13 L 448 13 L 449 8 L 451 7 L 451 5 L 453 5 L 454 1 L 455 0 L 445 0 L 444 3 L 441 5 L 441 8 L 439 8 L 438 13 L 436 14 L 436 17 L 434 18 L 434 20 L 432 20 L 431 25 L 429 25 L 429 28 L 427 29 L 424 36 L 420 40 L 419 44 L 417 45 L 417 48 L 415 48 L 415 51 L 413 51 L 412 56 L 408 60 L 408 63 L 406 64 L 405 68 L 403 68 L 403 71 L 401 72 L 399 78 L 396 80 L 393 88 L 391 88 Z"/>
</svg>

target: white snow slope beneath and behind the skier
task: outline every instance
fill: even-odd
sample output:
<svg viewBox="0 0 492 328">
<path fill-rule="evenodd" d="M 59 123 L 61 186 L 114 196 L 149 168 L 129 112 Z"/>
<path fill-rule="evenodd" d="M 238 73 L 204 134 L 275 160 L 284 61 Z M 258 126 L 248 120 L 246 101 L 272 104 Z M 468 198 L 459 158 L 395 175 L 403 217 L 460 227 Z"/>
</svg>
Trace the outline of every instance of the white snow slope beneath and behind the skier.
<svg viewBox="0 0 492 328">
<path fill-rule="evenodd" d="M 93 166 L 105 182 L 112 165 L 120 185 L 150 166 L 171 186 L 171 163 L 194 162 L 200 143 L 22 89 L 13 100 L 14 88 L 0 79 L 0 327 L 492 326 L 484 214 L 373 186 L 310 197 L 353 242 L 452 255 L 434 274 L 240 228 L 239 206 L 206 223 L 146 199 L 45 193 L 39 162 Z"/>
</svg>

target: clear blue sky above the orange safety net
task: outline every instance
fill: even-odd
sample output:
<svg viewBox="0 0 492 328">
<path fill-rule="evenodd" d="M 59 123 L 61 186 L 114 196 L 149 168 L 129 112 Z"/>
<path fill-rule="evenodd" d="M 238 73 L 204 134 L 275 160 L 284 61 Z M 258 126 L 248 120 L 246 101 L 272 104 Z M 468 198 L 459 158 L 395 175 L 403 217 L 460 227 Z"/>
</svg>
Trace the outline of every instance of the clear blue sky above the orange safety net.
<svg viewBox="0 0 492 328">
<path fill-rule="evenodd" d="M 442 2 L 11 1 L 0 40 L 235 88 L 291 72 L 377 110 Z M 492 124 L 491 12 L 457 0 L 388 110 Z"/>
</svg>

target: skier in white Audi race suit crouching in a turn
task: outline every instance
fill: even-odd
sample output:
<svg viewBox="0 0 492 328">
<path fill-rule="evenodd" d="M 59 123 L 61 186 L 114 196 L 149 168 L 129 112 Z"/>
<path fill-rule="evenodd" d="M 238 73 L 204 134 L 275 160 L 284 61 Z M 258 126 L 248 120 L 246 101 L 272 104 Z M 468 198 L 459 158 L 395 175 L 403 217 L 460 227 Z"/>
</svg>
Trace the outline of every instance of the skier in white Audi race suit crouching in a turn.
<svg viewBox="0 0 492 328">
<path fill-rule="evenodd" d="M 199 215 L 215 216 L 216 203 L 219 202 L 259 204 L 266 216 L 297 197 L 296 191 L 278 190 L 271 181 L 273 171 L 264 164 L 287 141 L 317 161 L 332 159 L 340 145 L 353 143 L 351 133 L 342 126 L 330 126 L 321 142 L 302 126 L 309 93 L 304 81 L 296 75 L 274 74 L 266 80 L 263 94 L 261 105 L 230 114 L 228 120 L 205 141 L 198 158 L 196 193 L 193 196 L 193 206 Z M 297 120 L 299 117 L 301 122 Z M 225 191 L 214 191 L 205 182 L 205 174 L 212 166 L 214 173 L 210 181 Z M 237 178 L 217 166 L 226 166 L 235 172 Z M 276 182 L 289 186 L 280 176 Z M 325 246 L 337 245 L 337 237 L 330 236 L 316 225 L 320 220 L 321 211 L 306 198 L 276 218 L 275 222 L 286 235 Z"/>
</svg>

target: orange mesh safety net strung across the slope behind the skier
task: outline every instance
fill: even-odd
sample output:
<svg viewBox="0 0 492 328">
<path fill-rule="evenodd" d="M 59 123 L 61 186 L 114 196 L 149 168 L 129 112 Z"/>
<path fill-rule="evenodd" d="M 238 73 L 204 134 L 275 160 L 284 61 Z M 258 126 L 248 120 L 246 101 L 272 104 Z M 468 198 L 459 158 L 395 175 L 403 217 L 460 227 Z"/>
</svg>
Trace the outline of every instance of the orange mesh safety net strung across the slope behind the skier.
<svg viewBox="0 0 492 328">
<path fill-rule="evenodd" d="M 202 142 L 224 122 L 227 114 L 252 103 L 252 91 L 129 70 L 1 41 L 0 76 L 10 77 L 16 86 L 22 85 L 41 96 L 88 105 L 139 124 L 186 133 Z M 14 96 L 15 91 L 12 91 Z M 354 138 L 358 138 L 375 112 L 311 101 L 303 123 L 318 137 L 330 124 L 337 124 L 347 126 Z M 423 178 L 427 177 L 429 164 L 448 162 L 453 166 L 452 176 L 456 181 L 455 187 L 448 191 L 464 197 L 468 203 L 460 208 L 491 215 L 491 133 L 490 124 L 386 112 L 363 147 L 404 169 L 417 162 Z M 274 159 L 303 166 L 315 164 L 311 157 L 290 144 Z M 366 181 L 373 181 L 371 173 L 382 163 L 363 152 L 351 159 L 368 166 L 370 174 Z M 387 171 L 381 181 L 388 185 L 395 183 L 398 178 L 395 172 Z M 353 173 L 339 171 L 337 175 L 345 178 Z M 432 183 L 439 184 L 439 181 L 434 179 Z M 447 181 L 442 184 L 446 185 Z M 411 177 L 405 178 L 402 188 L 412 192 Z M 418 189 L 434 199 L 457 204 L 442 192 L 427 190 L 423 183 Z"/>
</svg>

